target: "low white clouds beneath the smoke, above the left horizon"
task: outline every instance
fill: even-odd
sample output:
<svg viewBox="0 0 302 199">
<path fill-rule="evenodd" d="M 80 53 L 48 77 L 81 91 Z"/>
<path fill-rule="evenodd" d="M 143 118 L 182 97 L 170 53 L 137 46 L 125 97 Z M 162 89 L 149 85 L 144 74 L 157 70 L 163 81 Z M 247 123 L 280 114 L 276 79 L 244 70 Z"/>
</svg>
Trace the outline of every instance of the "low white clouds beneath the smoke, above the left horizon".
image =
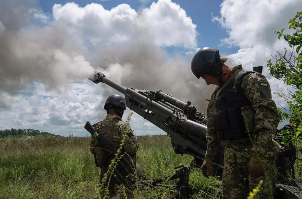
<svg viewBox="0 0 302 199">
<path fill-rule="evenodd" d="M 100 88 L 92 85 L 88 81 L 71 83 L 66 93 L 50 93 L 43 84 L 36 83 L 35 91 L 29 95 L 6 96 L 5 99 L 14 99 L 14 103 L 1 112 L 0 128 L 34 128 L 60 135 L 68 135 L 72 129 L 75 135 L 80 135 L 85 122 L 97 122 L 106 115 L 101 108 L 105 99 L 93 91 Z"/>
</svg>

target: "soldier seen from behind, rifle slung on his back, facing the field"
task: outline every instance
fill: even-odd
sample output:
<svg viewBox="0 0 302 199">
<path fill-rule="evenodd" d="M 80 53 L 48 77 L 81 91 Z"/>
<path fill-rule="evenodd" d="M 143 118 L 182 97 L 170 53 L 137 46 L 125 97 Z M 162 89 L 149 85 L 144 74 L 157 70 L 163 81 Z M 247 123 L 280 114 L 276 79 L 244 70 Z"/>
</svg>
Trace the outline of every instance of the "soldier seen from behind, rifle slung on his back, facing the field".
<svg viewBox="0 0 302 199">
<path fill-rule="evenodd" d="M 120 157 L 122 157 L 120 161 L 123 161 L 126 169 L 130 173 L 129 176 L 125 176 L 123 171 L 117 167 L 113 170 L 112 175 L 109 173 L 109 175 L 106 176 L 106 184 L 109 183 L 108 188 L 111 194 L 114 194 L 115 185 L 119 184 L 125 184 L 128 189 L 133 190 L 133 184 L 130 183 L 129 178 L 132 178 L 132 180 L 135 179 L 136 152 L 139 143 L 131 127 L 121 120 L 124 110 L 126 109 L 126 101 L 120 95 L 111 95 L 107 98 L 104 109 L 107 111 L 106 118 L 94 124 L 93 127 L 99 135 L 104 136 L 115 153 L 120 148 L 120 144 L 124 139 L 124 144 L 120 152 Z M 115 155 L 100 148 L 98 141 L 94 137 L 91 138 L 90 151 L 95 156 L 96 166 L 101 167 L 100 183 L 102 183 L 104 174 L 107 173 L 108 166 L 111 164 L 111 160 L 114 159 Z"/>
</svg>

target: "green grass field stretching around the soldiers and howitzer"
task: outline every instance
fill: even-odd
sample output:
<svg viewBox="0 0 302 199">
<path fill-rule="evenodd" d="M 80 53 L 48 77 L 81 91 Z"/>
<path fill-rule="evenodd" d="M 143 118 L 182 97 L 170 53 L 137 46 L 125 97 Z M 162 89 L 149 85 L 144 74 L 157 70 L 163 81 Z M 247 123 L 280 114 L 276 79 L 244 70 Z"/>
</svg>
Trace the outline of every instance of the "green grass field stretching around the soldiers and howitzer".
<svg viewBox="0 0 302 199">
<path fill-rule="evenodd" d="M 189 166 L 189 155 L 176 155 L 169 136 L 138 136 L 138 163 L 148 179 Z M 0 139 L 0 198 L 94 198 L 98 197 L 100 169 L 89 151 L 90 137 L 6 137 Z M 190 173 L 189 183 L 209 188 L 194 198 L 219 198 L 221 181 Z M 166 183 L 175 183 L 166 182 Z M 215 186 L 214 186 L 215 185 Z M 137 186 L 134 198 L 175 198 L 177 193 L 163 187 Z M 115 198 L 123 198 L 117 195 Z"/>
</svg>

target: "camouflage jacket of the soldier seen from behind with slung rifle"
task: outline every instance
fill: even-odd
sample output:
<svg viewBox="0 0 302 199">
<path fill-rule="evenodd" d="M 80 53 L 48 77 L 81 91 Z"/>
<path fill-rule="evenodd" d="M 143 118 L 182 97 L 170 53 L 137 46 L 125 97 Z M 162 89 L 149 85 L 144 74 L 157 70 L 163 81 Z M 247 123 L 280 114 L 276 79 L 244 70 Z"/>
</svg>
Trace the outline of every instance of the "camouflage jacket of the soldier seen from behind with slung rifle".
<svg viewBox="0 0 302 199">
<path fill-rule="evenodd" d="M 131 127 L 117 115 L 108 114 L 106 118 L 93 125 L 96 132 L 103 136 L 108 144 L 111 146 L 114 152 L 120 148 L 122 140 L 125 138 L 124 145 L 122 147 L 122 153 L 124 154 L 124 161 L 130 165 L 136 165 L 136 152 L 139 147 L 136 136 L 133 134 Z M 112 127 L 112 128 L 110 128 Z M 101 165 L 104 149 L 100 148 L 98 141 L 92 137 L 90 151 L 96 155 L 96 160 Z M 109 165 L 114 154 L 111 154 L 110 158 L 106 161 L 106 165 Z M 132 166 L 131 166 L 132 167 Z"/>
</svg>

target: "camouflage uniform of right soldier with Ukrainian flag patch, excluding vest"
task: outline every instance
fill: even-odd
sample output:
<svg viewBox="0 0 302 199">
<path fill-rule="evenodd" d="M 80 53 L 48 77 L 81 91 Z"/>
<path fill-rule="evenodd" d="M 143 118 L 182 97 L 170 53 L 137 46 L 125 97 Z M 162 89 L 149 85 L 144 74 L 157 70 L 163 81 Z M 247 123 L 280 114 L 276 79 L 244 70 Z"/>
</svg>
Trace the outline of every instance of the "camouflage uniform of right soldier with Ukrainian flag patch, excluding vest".
<svg viewBox="0 0 302 199">
<path fill-rule="evenodd" d="M 242 66 L 238 65 L 234 67 L 229 74 L 229 77 L 236 70 L 243 70 Z M 252 154 L 263 155 L 265 157 L 267 162 L 265 164 L 265 169 L 267 172 L 264 177 L 264 183 L 267 185 L 264 185 L 266 187 L 268 187 L 268 185 L 271 187 L 275 186 L 274 179 L 276 178 L 276 171 L 275 163 L 272 159 L 278 152 L 278 144 L 273 141 L 272 136 L 277 130 L 279 115 L 276 104 L 271 99 L 269 83 L 264 75 L 260 73 L 248 73 L 243 77 L 241 87 L 244 94 L 251 102 L 252 110 L 255 115 L 255 130 L 250 138 L 226 141 L 226 145 L 233 151 L 233 153 L 226 151 L 224 154 L 223 187 L 225 188 L 223 188 L 223 193 L 228 194 L 225 196 L 226 198 L 229 196 L 230 198 L 236 198 L 237 196 L 234 197 L 233 195 L 235 192 L 241 194 L 238 195 L 238 197 L 246 198 L 248 196 L 249 187 L 253 187 L 255 184 L 258 184 L 259 181 L 254 183 L 254 181 L 257 181 L 255 179 L 251 179 L 251 181 L 244 180 L 249 178 L 249 160 L 252 157 Z M 208 158 L 215 157 L 215 152 L 220 142 L 217 137 L 217 132 L 215 131 L 213 119 L 216 111 L 215 105 L 216 95 L 213 93 L 207 108 L 208 131 L 206 137 L 207 152 L 205 157 Z M 243 153 L 243 155 L 240 155 L 240 153 Z M 243 156 L 246 157 L 243 158 Z M 271 170 L 268 168 L 271 168 Z M 238 186 L 238 183 L 240 186 Z M 255 186 L 253 188 L 255 188 Z M 228 192 L 226 192 L 226 189 L 228 189 Z M 267 188 L 265 188 L 265 190 L 267 190 Z"/>
</svg>

